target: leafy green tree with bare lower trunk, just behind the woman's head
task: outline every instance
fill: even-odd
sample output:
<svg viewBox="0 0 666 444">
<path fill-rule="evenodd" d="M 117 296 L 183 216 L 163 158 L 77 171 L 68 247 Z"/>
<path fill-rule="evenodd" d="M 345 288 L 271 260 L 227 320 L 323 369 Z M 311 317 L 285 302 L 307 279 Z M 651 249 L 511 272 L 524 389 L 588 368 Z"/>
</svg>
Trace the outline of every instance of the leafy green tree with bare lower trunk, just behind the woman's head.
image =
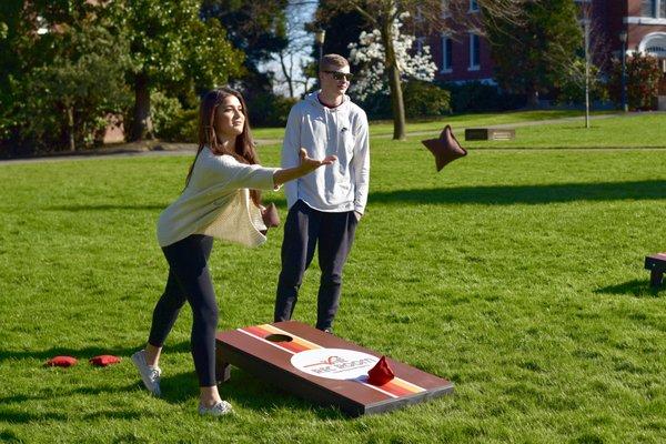
<svg viewBox="0 0 666 444">
<path fill-rule="evenodd" d="M 121 9 L 132 59 L 132 139 L 152 135 L 152 89 L 203 90 L 241 74 L 242 51 L 219 20 L 201 20 L 200 0 L 123 0 Z"/>
</svg>

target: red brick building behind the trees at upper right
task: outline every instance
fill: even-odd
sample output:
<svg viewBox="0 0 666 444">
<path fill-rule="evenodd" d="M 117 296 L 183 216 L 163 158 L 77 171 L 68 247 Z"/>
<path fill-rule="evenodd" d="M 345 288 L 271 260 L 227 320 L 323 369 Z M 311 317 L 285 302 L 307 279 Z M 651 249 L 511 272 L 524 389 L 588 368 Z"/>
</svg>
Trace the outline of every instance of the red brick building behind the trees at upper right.
<svg viewBox="0 0 666 444">
<path fill-rule="evenodd" d="M 446 1 L 446 0 L 443 0 Z M 604 65 L 610 57 L 622 53 L 620 32 L 627 33 L 627 53 L 640 51 L 659 59 L 666 72 L 666 0 L 572 0 L 581 10 L 588 8 L 591 26 L 595 32 Z M 493 59 L 490 43 L 480 31 L 481 13 L 477 1 L 468 0 L 470 22 L 464 27 L 451 24 L 451 30 L 430 36 L 431 47 L 437 64 L 437 78 L 453 82 L 484 81 L 494 83 Z M 583 19 L 581 19 L 583 22 Z M 662 82 L 662 105 L 666 107 L 666 78 Z M 662 108 L 662 107 L 660 107 Z"/>
</svg>

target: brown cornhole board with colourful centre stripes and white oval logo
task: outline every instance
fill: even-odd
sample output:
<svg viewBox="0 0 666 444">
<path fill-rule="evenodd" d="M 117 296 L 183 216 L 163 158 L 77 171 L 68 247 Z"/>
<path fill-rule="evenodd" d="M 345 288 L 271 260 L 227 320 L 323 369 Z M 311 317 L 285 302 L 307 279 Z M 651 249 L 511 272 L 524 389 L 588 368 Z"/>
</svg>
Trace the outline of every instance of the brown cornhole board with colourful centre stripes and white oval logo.
<svg viewBox="0 0 666 444">
<path fill-rule="evenodd" d="M 451 382 L 389 357 L 395 379 L 381 386 L 371 385 L 367 371 L 381 356 L 295 321 L 216 334 L 219 382 L 229 380 L 231 364 L 351 416 L 389 412 L 453 392 Z"/>
</svg>

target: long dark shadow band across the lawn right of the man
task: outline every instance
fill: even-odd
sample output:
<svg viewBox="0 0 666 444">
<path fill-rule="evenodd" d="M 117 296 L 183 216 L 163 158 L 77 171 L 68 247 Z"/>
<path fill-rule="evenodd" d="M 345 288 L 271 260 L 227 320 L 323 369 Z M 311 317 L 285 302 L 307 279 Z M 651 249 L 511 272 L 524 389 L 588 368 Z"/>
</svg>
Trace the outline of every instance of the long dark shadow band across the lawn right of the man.
<svg viewBox="0 0 666 444">
<path fill-rule="evenodd" d="M 370 194 L 370 201 L 373 203 L 481 203 L 488 205 L 659 199 L 666 199 L 666 180 L 545 185 L 451 186 L 380 191 Z"/>
</svg>

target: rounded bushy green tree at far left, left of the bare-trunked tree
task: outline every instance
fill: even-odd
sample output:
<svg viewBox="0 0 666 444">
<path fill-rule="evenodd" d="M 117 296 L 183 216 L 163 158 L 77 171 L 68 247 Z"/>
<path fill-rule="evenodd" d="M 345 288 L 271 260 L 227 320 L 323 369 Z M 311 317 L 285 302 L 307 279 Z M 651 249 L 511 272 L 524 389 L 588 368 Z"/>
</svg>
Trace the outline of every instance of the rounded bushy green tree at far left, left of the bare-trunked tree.
<svg viewBox="0 0 666 444">
<path fill-rule="evenodd" d="M 17 83 L 16 91 L 29 99 L 18 110 L 24 138 L 56 147 L 65 141 L 74 151 L 99 141 L 107 115 L 121 113 L 130 103 L 122 63 L 127 52 L 109 46 L 119 42 L 101 27 L 68 30 L 60 40 L 61 53 L 52 63 Z"/>
</svg>

